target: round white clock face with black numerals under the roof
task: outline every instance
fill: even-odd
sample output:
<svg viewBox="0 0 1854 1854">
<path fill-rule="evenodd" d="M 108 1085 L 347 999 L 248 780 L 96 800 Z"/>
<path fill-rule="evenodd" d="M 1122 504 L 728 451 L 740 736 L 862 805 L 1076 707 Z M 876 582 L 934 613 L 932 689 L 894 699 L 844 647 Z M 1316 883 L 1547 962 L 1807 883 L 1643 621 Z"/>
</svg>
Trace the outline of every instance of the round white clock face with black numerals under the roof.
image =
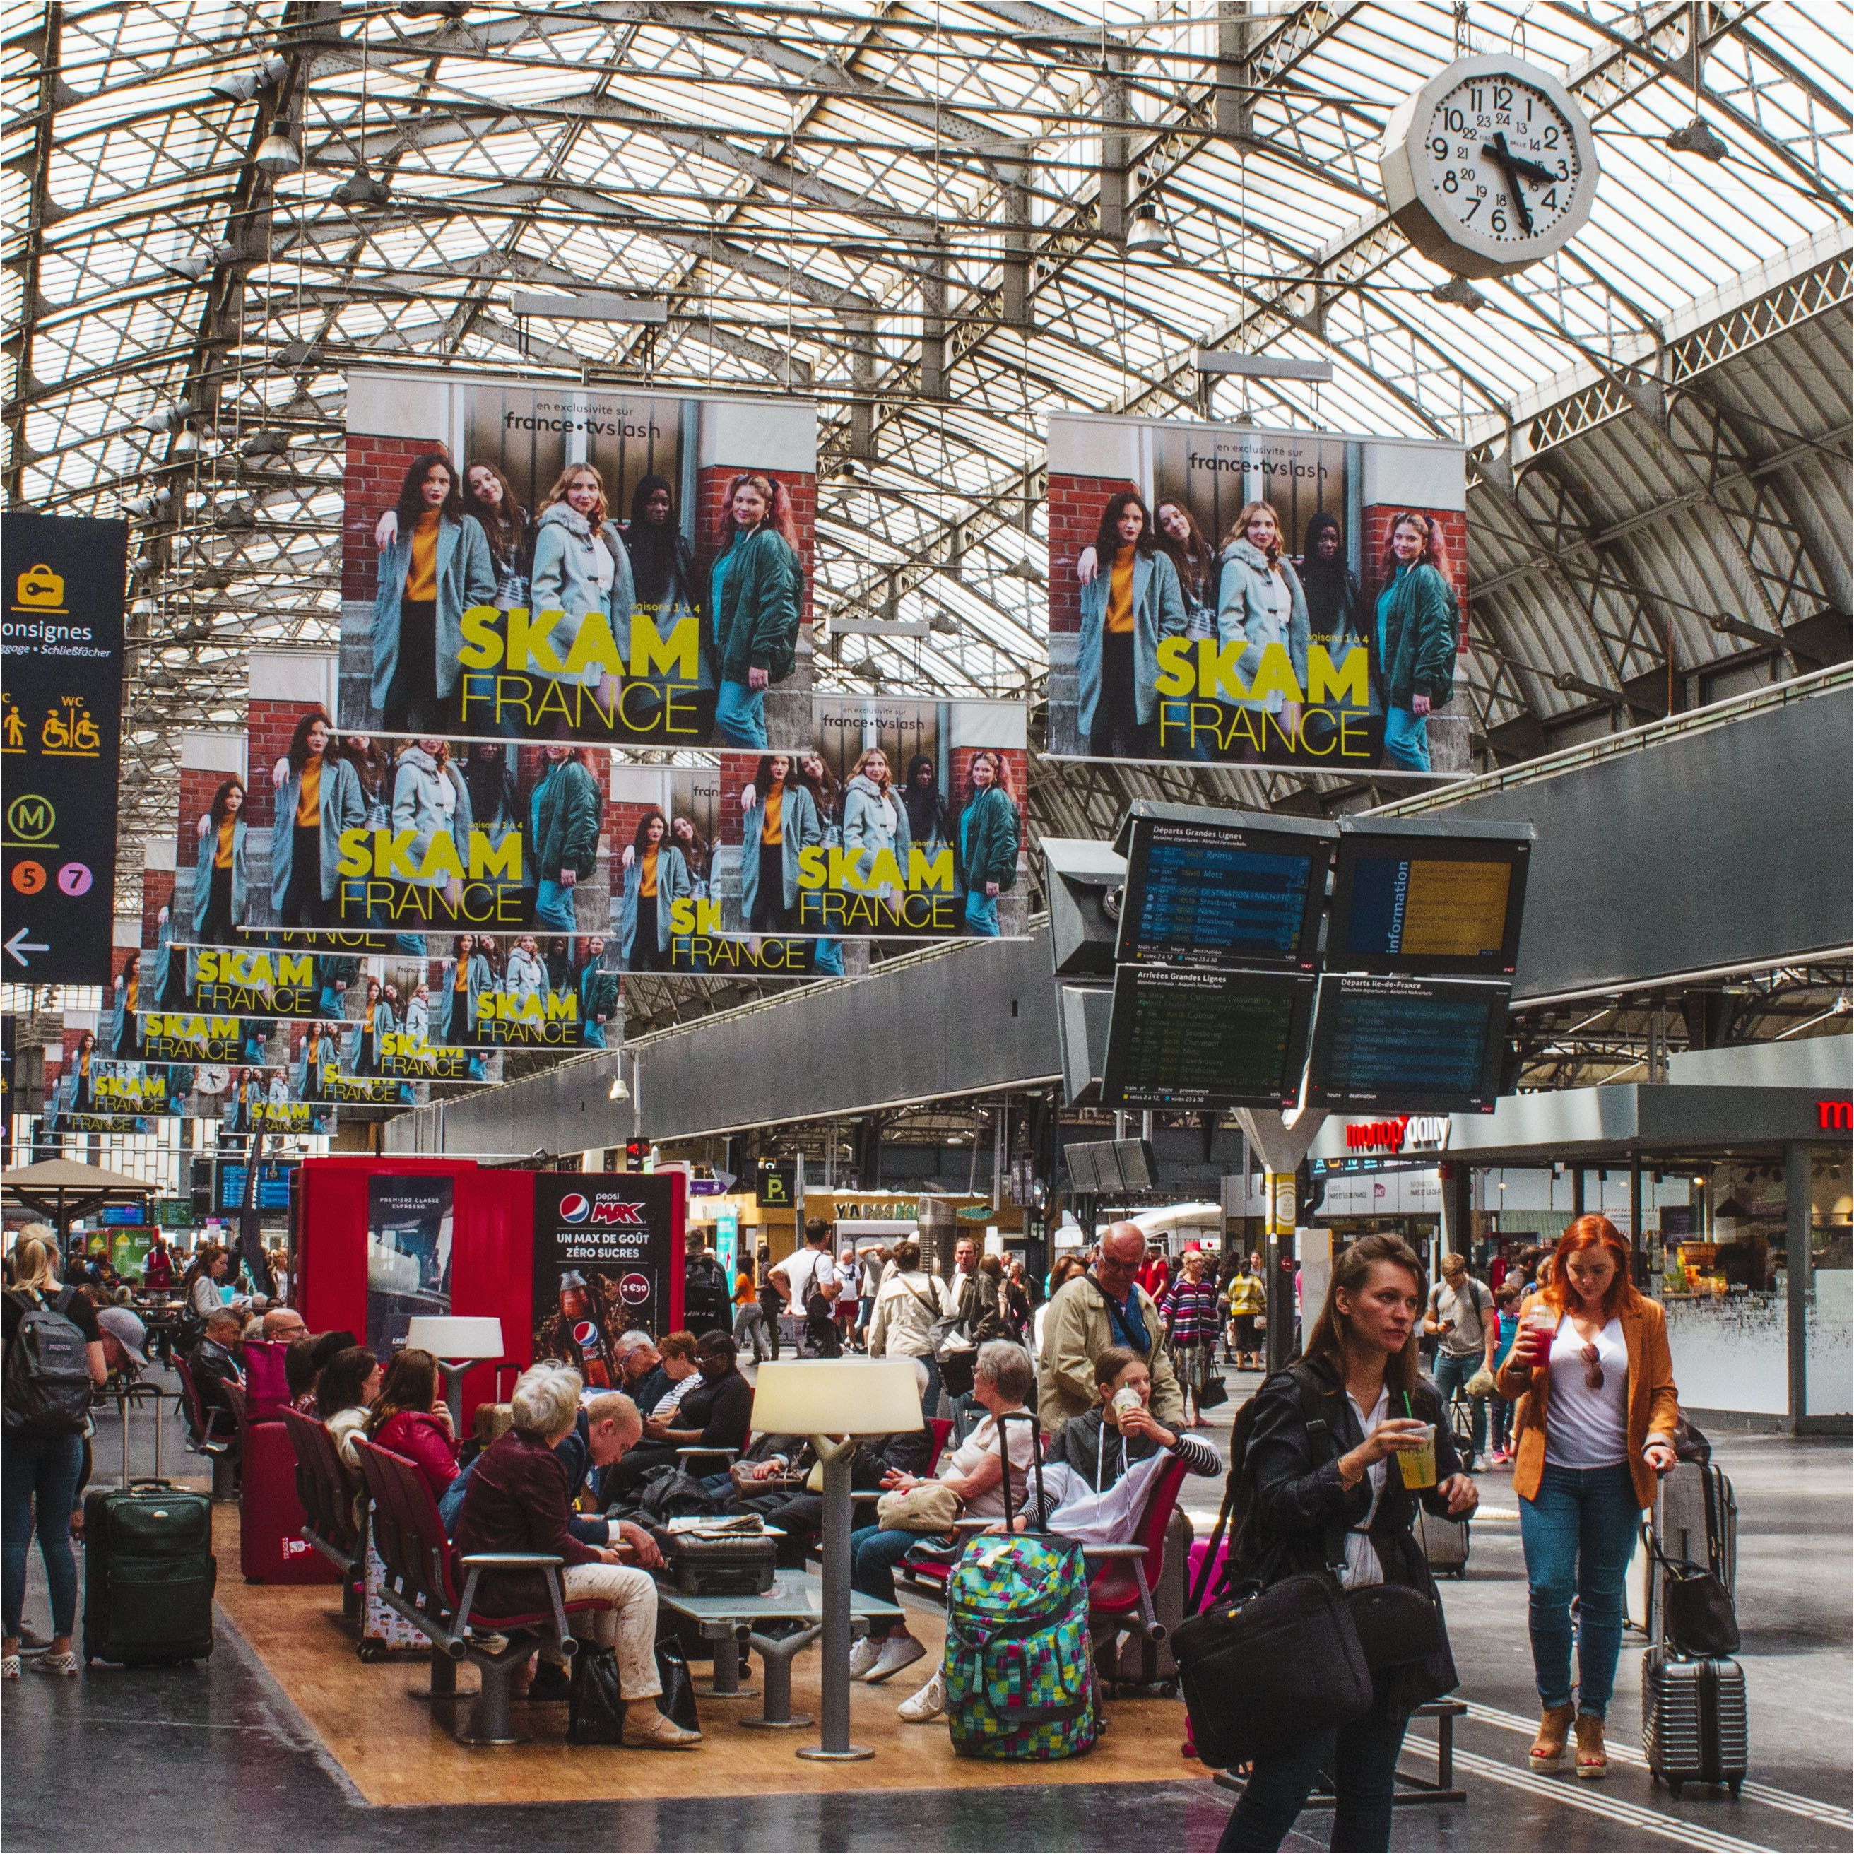
<svg viewBox="0 0 1854 1854">
<path fill-rule="evenodd" d="M 1556 243 L 1580 204 L 1583 165 L 1550 95 L 1502 72 L 1463 78 L 1424 132 L 1429 206 L 1496 247 Z"/>
</svg>

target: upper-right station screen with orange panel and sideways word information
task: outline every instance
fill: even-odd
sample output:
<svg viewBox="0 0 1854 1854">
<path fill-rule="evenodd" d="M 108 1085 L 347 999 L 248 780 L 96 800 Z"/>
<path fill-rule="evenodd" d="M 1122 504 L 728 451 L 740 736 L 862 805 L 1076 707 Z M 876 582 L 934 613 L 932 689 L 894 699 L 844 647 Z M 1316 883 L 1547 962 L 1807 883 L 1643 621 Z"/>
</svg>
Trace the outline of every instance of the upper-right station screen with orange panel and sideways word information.
<svg viewBox="0 0 1854 1854">
<path fill-rule="evenodd" d="M 1327 968 L 1511 977 L 1530 855 L 1520 834 L 1348 829 L 1333 875 Z"/>
</svg>

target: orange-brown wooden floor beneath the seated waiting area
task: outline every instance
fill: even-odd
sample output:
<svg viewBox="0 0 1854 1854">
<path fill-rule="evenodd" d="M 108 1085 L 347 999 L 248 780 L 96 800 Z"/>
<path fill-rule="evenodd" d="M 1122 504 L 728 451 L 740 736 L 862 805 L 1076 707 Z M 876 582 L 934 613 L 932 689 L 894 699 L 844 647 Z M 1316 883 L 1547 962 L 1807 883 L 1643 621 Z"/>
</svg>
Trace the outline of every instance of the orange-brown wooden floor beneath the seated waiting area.
<svg viewBox="0 0 1854 1854">
<path fill-rule="evenodd" d="M 371 1804 L 590 1802 L 682 1797 L 753 1797 L 862 1789 L 973 1789 L 1022 1784 L 1205 1784 L 1203 1765 L 1179 1752 L 1185 1711 L 1177 1700 L 1124 1698 L 1107 1706 L 1109 1730 L 1086 1758 L 1066 1763 L 986 1763 L 957 1758 L 944 1722 L 905 1726 L 895 1706 L 927 1678 L 940 1650 L 934 1606 L 903 1598 L 929 1659 L 881 1687 L 851 1687 L 851 1741 L 870 1745 L 862 1763 L 812 1763 L 794 1756 L 818 1741 L 816 1726 L 755 1732 L 740 1719 L 760 1702 L 703 1698 L 703 1745 L 693 1752 L 634 1752 L 565 1743 L 565 1706 L 517 1706 L 515 1730 L 532 1743 L 469 1750 L 432 1719 L 415 1693 L 425 1657 L 375 1665 L 354 1654 L 332 1585 L 254 1585 L 237 1574 L 237 1509 L 217 1507 L 219 1606 L 323 1745 Z M 697 1678 L 705 1669 L 697 1669 Z M 753 1657 L 753 1685 L 760 1661 Z M 460 1670 L 458 1685 L 475 1674 Z M 818 1654 L 794 1663 L 794 1711 L 818 1711 Z"/>
</svg>

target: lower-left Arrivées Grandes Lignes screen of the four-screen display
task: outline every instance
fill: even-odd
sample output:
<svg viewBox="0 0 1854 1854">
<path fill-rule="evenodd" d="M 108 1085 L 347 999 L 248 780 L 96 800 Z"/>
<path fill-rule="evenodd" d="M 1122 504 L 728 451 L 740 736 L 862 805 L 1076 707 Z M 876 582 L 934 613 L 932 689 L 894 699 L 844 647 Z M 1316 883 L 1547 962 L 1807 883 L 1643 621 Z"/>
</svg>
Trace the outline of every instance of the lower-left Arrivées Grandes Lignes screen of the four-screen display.
<svg viewBox="0 0 1854 1854">
<path fill-rule="evenodd" d="M 1122 966 L 1107 1027 L 1109 1107 L 1292 1107 L 1314 979 Z"/>
</svg>

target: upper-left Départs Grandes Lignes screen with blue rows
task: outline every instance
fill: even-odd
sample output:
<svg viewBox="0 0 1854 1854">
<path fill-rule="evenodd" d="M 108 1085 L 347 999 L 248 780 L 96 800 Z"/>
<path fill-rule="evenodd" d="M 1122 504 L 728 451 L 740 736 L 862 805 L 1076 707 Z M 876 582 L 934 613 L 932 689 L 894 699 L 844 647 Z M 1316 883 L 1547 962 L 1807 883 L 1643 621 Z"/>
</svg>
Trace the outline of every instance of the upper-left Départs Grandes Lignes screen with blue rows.
<svg viewBox="0 0 1854 1854">
<path fill-rule="evenodd" d="M 1116 957 L 1311 971 L 1331 851 L 1324 834 L 1135 814 Z"/>
</svg>

